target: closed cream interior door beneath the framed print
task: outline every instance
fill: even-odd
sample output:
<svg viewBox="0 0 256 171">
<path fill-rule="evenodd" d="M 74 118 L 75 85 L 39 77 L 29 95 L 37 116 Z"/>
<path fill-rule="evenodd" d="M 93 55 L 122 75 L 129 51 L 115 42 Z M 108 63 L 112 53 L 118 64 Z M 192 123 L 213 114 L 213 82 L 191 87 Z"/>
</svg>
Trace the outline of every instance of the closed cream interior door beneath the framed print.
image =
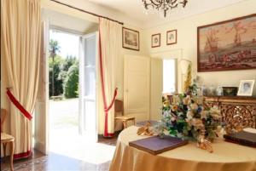
<svg viewBox="0 0 256 171">
<path fill-rule="evenodd" d="M 150 58 L 125 55 L 124 111 L 136 121 L 149 119 Z"/>
</svg>

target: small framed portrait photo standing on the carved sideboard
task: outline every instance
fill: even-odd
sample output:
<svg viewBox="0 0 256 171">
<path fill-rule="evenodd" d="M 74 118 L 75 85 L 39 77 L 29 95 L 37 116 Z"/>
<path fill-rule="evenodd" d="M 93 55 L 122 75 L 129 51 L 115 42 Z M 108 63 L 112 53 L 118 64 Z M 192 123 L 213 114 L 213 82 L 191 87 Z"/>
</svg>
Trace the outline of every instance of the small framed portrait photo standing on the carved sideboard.
<svg viewBox="0 0 256 171">
<path fill-rule="evenodd" d="M 254 80 L 241 80 L 237 95 L 252 96 Z"/>
</svg>

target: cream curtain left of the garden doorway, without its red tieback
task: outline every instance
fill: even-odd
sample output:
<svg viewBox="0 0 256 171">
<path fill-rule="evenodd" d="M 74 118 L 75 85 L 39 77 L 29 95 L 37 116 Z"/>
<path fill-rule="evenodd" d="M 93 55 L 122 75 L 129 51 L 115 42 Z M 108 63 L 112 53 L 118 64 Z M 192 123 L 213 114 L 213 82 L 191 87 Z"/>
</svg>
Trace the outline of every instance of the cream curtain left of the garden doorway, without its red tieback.
<svg viewBox="0 0 256 171">
<path fill-rule="evenodd" d="M 32 114 L 38 93 L 40 61 L 40 0 L 1 0 L 1 43 L 8 87 Z M 13 105 L 9 107 L 10 134 L 15 137 L 15 158 L 28 157 L 32 123 Z"/>
</svg>

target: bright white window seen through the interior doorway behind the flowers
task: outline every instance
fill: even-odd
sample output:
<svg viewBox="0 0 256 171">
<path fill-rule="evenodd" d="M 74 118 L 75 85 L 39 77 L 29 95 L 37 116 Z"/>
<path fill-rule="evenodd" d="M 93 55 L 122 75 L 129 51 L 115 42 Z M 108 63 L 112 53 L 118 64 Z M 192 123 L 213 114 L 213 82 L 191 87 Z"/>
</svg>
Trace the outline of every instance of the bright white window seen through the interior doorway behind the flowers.
<svg viewBox="0 0 256 171">
<path fill-rule="evenodd" d="M 176 91 L 176 60 L 163 60 L 163 94 Z"/>
</svg>

